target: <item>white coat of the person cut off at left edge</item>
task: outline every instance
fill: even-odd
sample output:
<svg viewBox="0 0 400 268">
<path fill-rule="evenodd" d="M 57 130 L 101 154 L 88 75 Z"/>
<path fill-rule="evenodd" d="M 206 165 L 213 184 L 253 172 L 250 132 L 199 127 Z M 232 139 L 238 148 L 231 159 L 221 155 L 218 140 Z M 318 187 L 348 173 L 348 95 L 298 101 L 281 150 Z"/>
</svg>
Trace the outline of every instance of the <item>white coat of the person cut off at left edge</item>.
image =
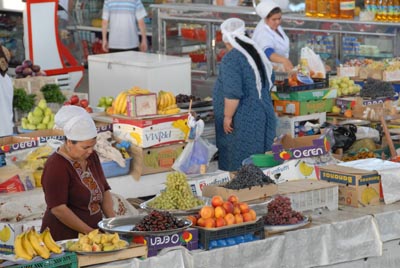
<svg viewBox="0 0 400 268">
<path fill-rule="evenodd" d="M 13 134 L 14 88 L 11 78 L 0 75 L 0 137 Z"/>
</svg>

